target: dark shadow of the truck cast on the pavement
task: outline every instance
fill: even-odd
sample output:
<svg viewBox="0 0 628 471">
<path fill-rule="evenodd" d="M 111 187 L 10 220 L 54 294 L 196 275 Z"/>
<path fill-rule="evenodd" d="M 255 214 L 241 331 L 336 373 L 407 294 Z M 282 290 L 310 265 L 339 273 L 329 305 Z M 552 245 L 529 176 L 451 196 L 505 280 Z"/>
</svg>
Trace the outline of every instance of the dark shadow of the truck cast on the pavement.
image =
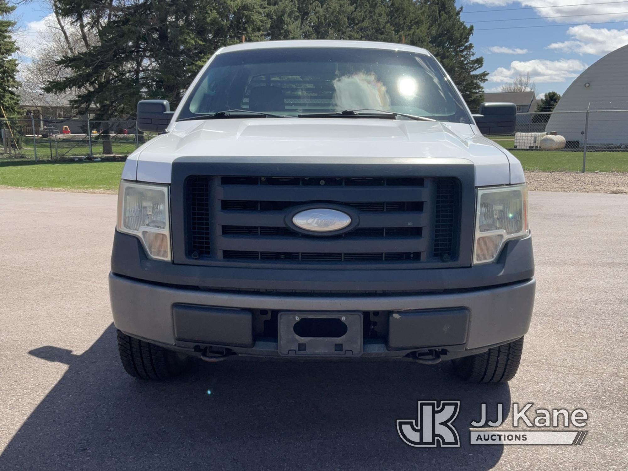
<svg viewBox="0 0 628 471">
<path fill-rule="evenodd" d="M 450 365 L 412 362 L 194 362 L 172 382 L 126 375 L 111 325 L 82 355 L 31 354 L 69 364 L 0 457 L 2 469 L 488 470 L 501 445 L 470 446 L 468 428 L 509 387 L 469 385 Z M 26 392 L 25 392 L 26 393 Z M 418 400 L 460 400 L 460 448 L 409 447 L 396 419 Z"/>
</svg>

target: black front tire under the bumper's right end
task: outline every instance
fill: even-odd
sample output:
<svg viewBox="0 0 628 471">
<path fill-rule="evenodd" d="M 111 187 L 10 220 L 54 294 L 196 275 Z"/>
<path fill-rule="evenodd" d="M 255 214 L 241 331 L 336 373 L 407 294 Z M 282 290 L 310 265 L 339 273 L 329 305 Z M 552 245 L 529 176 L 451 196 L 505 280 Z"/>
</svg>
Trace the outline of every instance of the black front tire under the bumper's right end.
<svg viewBox="0 0 628 471">
<path fill-rule="evenodd" d="M 468 382 L 507 382 L 517 374 L 523 337 L 484 353 L 453 360 L 455 374 Z"/>
</svg>

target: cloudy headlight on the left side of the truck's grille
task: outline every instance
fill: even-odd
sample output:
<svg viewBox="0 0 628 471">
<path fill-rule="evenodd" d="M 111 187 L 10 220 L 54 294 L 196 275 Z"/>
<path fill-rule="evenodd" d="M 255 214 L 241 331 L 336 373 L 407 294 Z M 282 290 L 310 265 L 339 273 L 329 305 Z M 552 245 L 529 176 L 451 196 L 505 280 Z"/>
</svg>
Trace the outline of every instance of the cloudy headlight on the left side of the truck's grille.
<svg viewBox="0 0 628 471">
<path fill-rule="evenodd" d="M 148 256 L 170 261 L 170 217 L 167 185 L 122 180 L 118 192 L 117 230 L 139 237 Z"/>
</svg>

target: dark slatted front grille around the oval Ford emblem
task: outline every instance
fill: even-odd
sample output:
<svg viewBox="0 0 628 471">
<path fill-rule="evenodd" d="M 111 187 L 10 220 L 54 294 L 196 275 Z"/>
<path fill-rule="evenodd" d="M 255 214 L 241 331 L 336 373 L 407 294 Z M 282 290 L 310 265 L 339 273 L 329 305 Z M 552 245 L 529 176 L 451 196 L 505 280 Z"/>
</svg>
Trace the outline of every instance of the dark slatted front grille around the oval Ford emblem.
<svg viewBox="0 0 628 471">
<path fill-rule="evenodd" d="M 288 264 L 450 261 L 457 257 L 457 178 L 190 176 L 187 255 Z M 359 224 L 339 236 L 296 232 L 295 207 L 346 207 Z"/>
</svg>

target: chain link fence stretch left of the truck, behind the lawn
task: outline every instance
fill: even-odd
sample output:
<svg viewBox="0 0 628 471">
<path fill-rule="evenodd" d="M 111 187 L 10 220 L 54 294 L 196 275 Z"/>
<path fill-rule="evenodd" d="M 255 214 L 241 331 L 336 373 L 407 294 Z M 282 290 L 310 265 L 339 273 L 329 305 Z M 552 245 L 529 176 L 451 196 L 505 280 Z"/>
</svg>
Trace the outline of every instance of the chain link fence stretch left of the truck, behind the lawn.
<svg viewBox="0 0 628 471">
<path fill-rule="evenodd" d="M 0 159 L 124 158 L 156 134 L 138 132 L 135 120 L 9 118 L 0 120 Z"/>
</svg>

